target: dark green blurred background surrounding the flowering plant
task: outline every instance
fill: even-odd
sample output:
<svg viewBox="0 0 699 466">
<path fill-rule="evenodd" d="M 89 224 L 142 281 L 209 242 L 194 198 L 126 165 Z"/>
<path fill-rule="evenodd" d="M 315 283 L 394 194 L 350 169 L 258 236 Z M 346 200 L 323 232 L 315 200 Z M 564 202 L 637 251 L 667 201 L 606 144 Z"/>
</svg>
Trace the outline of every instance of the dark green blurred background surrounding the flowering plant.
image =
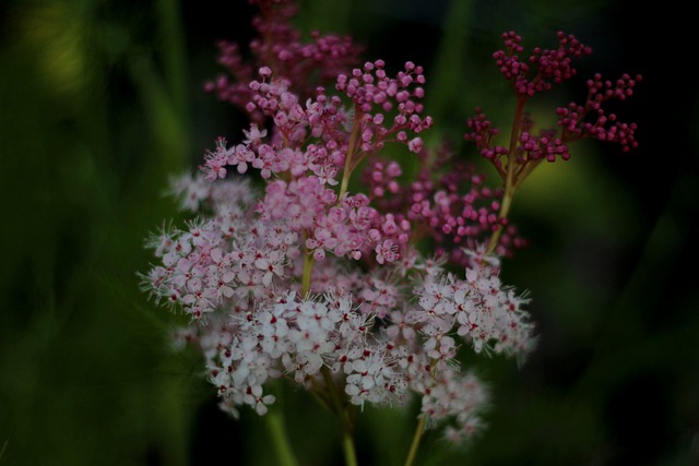
<svg viewBox="0 0 699 466">
<path fill-rule="evenodd" d="M 222 71 L 216 39 L 250 38 L 250 13 L 242 0 L 0 2 L 0 465 L 274 464 L 262 420 L 220 414 L 198 358 L 169 350 L 180 316 L 137 277 L 143 239 L 178 215 L 168 177 L 216 136 L 239 139 L 240 115 L 202 84 Z M 643 74 L 618 107 L 639 123 L 637 151 L 579 144 L 518 194 L 532 246 L 503 275 L 531 291 L 538 349 L 521 368 L 477 360 L 488 430 L 466 452 L 427 434 L 418 463 L 699 465 L 697 83 L 674 58 L 690 56 L 691 15 L 629 1 L 334 0 L 304 1 L 297 20 L 354 35 L 367 59 L 424 64 L 428 142 L 470 157 L 461 134 L 476 105 L 509 121 L 489 61 L 503 31 L 553 47 L 564 29 L 593 47 L 580 80 L 535 111 L 580 98 L 594 72 Z M 340 464 L 332 419 L 274 390 L 300 464 Z M 360 464 L 401 464 L 414 415 L 367 408 Z"/>
</svg>

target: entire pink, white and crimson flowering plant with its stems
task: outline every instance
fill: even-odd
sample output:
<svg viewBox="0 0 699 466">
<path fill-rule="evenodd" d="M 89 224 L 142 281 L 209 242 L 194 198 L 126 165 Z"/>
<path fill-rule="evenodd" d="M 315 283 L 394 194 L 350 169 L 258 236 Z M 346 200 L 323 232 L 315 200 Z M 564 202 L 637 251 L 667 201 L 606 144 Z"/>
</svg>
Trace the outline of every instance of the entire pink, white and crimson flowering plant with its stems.
<svg viewBox="0 0 699 466">
<path fill-rule="evenodd" d="M 143 287 L 190 316 L 175 338 L 201 351 L 234 417 L 242 407 L 264 416 L 275 402 L 266 385 L 283 379 L 334 414 L 348 466 L 365 404 L 418 402 L 407 466 L 426 429 L 466 444 L 484 427 L 489 394 L 458 350 L 522 359 L 535 346 L 529 300 L 499 277 L 501 259 L 525 246 L 508 222 L 514 192 L 542 160 L 568 159 L 570 142 L 633 147 L 636 126 L 602 104 L 630 96 L 640 76 L 595 76 L 585 104 L 557 109 L 559 133 L 535 134 L 525 103 L 571 77 L 590 49 L 559 33 L 558 48 L 520 60 L 521 38 L 503 34 L 494 59 L 518 97 L 509 145 L 495 143 L 481 109 L 464 135 L 501 177 L 491 188 L 458 154 L 423 143 L 433 119 L 422 67 L 359 65 L 363 50 L 347 37 L 313 32 L 303 43 L 291 0 L 252 3 L 260 34 L 250 59 L 220 43 L 227 74 L 205 85 L 249 127 L 238 144 L 216 140 L 198 174 L 174 180 L 192 217 L 149 240 L 158 263 Z M 387 144 L 404 154 L 388 157 Z M 417 175 L 403 180 L 407 166 Z"/>
</svg>

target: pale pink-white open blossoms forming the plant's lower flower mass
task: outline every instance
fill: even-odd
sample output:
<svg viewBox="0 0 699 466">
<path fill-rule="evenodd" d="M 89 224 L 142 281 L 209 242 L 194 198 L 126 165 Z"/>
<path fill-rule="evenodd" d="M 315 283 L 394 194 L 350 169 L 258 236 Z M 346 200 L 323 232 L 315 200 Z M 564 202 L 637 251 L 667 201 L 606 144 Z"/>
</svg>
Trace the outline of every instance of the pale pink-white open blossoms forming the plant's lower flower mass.
<svg viewBox="0 0 699 466">
<path fill-rule="evenodd" d="M 414 392 L 431 418 L 459 415 L 450 438 L 467 437 L 487 397 L 474 374 L 459 371 L 457 349 L 465 343 L 476 353 L 525 355 L 533 344 L 526 300 L 500 283 L 493 258 L 475 254 L 473 265 L 457 275 L 410 246 L 401 254 L 386 239 L 371 248 L 371 229 L 351 226 L 382 218 L 376 235 L 384 238 L 388 216 L 367 205 L 337 204 L 336 196 L 328 205 L 279 182 L 266 184 L 266 196 L 256 203 L 247 178 L 213 184 L 203 174 L 182 178 L 182 205 L 211 214 L 162 231 L 151 243 L 162 265 L 152 268 L 147 287 L 199 322 L 187 340 L 200 345 L 223 406 L 236 414 L 249 405 L 264 414 L 274 398 L 263 385 L 281 377 L 327 392 L 324 370 L 354 405 L 400 404 Z M 294 201 L 282 201 L 279 215 L 270 215 L 279 196 Z M 309 200 L 307 208 L 291 214 L 300 199 Z M 341 260 L 339 252 L 352 249 L 342 246 L 350 230 L 370 242 L 354 248 L 372 249 L 372 270 Z M 319 253 L 324 249 L 333 253 Z M 304 290 L 309 258 L 319 262 Z M 454 398 L 471 404 L 469 416 L 454 411 Z"/>
</svg>

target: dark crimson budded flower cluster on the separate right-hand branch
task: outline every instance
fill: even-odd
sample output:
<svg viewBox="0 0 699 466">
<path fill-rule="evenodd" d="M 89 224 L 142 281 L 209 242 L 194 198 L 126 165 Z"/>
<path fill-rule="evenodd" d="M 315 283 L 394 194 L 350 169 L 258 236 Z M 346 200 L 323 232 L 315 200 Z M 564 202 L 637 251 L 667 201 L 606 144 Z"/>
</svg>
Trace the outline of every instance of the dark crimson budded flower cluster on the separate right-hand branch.
<svg viewBox="0 0 699 466">
<path fill-rule="evenodd" d="M 574 36 L 558 33 L 558 48 L 542 50 L 535 48 L 528 60 L 520 60 L 523 52 L 522 38 L 513 32 L 502 34 L 506 49 L 493 55 L 500 72 L 511 83 L 518 98 L 516 121 L 509 146 L 494 144 L 499 131 L 486 119 L 481 108 L 469 119 L 471 132 L 464 134 L 476 144 L 481 155 L 487 158 L 503 179 L 511 177 L 513 187 L 519 186 L 542 160 L 555 162 L 570 158 L 569 144 L 583 138 L 615 142 L 626 152 L 636 147 L 636 124 L 617 121 L 614 113 L 607 115 L 603 104 L 612 99 L 625 100 L 633 95 L 633 87 L 641 76 L 624 74 L 616 82 L 603 81 L 600 74 L 589 80 L 588 98 L 584 104 L 571 103 L 558 107 L 558 126 L 534 132 L 534 122 L 524 105 L 536 93 L 549 91 L 553 84 L 560 84 L 577 74 L 572 67 L 574 59 L 592 53 L 592 49 Z M 508 171 L 510 171 L 508 174 Z"/>
</svg>

